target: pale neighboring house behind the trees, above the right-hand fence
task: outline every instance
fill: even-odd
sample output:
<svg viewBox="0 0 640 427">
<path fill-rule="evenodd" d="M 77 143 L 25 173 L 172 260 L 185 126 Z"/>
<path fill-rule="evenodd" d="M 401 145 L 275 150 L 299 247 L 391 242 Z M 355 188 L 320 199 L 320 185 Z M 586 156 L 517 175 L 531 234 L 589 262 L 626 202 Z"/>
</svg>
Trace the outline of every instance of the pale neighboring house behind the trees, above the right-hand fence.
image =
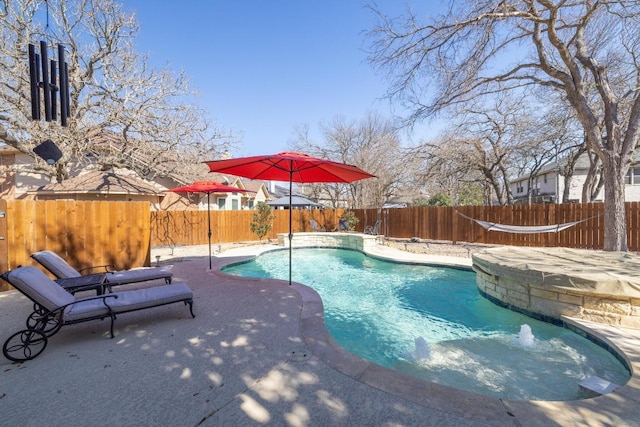
<svg viewBox="0 0 640 427">
<path fill-rule="evenodd" d="M 585 154 L 576 162 L 569 188 L 569 202 L 580 202 L 582 200 L 582 188 L 588 171 L 589 159 Z M 529 194 L 528 182 L 529 176 L 525 175 L 518 177 L 509 184 L 515 203 L 527 202 Z M 564 184 L 565 178 L 560 175 L 557 163 L 554 162 L 544 166 L 533 178 L 531 184 L 532 203 L 562 203 Z M 626 176 L 625 200 L 627 202 L 640 201 L 640 152 L 638 150 L 636 150 L 634 162 Z M 604 189 L 600 191 L 595 201 L 604 201 Z"/>
</svg>

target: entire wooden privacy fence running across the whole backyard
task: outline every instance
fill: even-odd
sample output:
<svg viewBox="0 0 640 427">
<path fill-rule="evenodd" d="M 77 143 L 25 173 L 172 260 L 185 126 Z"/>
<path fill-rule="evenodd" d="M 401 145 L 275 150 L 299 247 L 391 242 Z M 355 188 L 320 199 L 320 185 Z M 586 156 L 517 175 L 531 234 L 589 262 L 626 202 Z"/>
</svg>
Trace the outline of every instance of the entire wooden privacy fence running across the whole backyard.
<svg viewBox="0 0 640 427">
<path fill-rule="evenodd" d="M 627 242 L 640 251 L 640 203 L 627 210 Z M 508 225 L 549 225 L 586 220 L 559 233 L 514 234 L 487 231 L 474 219 Z M 33 252 L 49 249 L 76 268 L 111 264 L 124 269 L 150 265 L 153 246 L 199 245 L 208 242 L 206 211 L 151 212 L 147 202 L 6 201 L 0 200 L 0 271 L 34 265 Z M 311 231 L 314 219 L 328 231 L 338 228 L 344 210 L 294 210 L 294 232 Z M 380 233 L 388 237 L 418 237 L 454 243 L 513 246 L 563 246 L 602 249 L 604 205 L 601 203 L 532 206 L 409 207 L 358 209 L 356 231 L 382 221 Z M 255 241 L 250 224 L 255 211 L 212 211 L 213 244 Z M 289 230 L 289 211 L 274 211 L 275 220 L 265 236 L 275 239 Z M 4 216 L 3 216 L 4 215 Z M 8 289 L 0 284 L 0 289 Z"/>
</svg>

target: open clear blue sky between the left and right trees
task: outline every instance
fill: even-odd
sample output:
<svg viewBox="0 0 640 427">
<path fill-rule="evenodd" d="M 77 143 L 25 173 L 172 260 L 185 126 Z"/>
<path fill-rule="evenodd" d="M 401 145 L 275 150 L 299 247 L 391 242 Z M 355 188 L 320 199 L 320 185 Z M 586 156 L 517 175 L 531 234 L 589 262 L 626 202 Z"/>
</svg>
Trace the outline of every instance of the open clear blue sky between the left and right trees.
<svg viewBox="0 0 640 427">
<path fill-rule="evenodd" d="M 235 155 L 284 151 L 301 124 L 318 137 L 338 115 L 391 117 L 386 82 L 366 63 L 375 16 L 363 0 L 121 1 L 140 24 L 138 50 L 185 70 L 217 125 L 242 132 Z"/>
</svg>

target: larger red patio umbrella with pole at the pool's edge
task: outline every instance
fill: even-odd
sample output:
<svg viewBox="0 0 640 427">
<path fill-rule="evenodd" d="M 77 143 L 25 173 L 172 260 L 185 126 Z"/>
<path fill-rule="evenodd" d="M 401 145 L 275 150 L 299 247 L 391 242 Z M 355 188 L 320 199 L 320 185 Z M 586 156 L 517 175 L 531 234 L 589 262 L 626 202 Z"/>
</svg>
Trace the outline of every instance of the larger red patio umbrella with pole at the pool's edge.
<svg viewBox="0 0 640 427">
<path fill-rule="evenodd" d="M 226 173 L 249 179 L 289 181 L 289 284 L 291 284 L 291 241 L 293 240 L 291 231 L 292 183 L 349 183 L 375 177 L 375 175 L 356 166 L 293 152 L 213 160 L 205 163 L 209 166 L 210 172 Z"/>
</svg>

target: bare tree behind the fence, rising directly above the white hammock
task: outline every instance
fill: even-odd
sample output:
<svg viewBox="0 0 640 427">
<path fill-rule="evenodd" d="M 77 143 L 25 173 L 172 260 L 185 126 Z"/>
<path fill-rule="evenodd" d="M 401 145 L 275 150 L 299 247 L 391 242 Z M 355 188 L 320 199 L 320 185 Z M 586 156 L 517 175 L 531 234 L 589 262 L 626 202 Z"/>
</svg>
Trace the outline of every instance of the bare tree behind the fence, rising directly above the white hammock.
<svg viewBox="0 0 640 427">
<path fill-rule="evenodd" d="M 512 95 L 474 100 L 459 109 L 445 136 L 422 146 L 431 159 L 424 164 L 429 179 L 476 182 L 491 194 L 487 203 L 505 205 L 514 201 L 511 181 L 527 176 L 531 202 L 537 175 L 570 139 L 553 112 Z"/>
</svg>

